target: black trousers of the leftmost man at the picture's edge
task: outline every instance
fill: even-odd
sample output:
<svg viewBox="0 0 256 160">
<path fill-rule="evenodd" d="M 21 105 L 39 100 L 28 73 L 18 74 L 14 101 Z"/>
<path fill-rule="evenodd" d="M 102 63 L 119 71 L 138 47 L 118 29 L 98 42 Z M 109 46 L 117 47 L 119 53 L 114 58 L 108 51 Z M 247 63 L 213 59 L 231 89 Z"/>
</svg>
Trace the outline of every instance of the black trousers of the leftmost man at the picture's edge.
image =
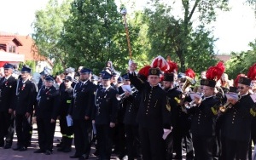
<svg viewBox="0 0 256 160">
<path fill-rule="evenodd" d="M 6 143 L 12 145 L 15 131 L 14 124 L 14 114 L 9 114 L 8 111 L 0 111 L 0 146 L 4 145 L 4 138 Z"/>
</svg>

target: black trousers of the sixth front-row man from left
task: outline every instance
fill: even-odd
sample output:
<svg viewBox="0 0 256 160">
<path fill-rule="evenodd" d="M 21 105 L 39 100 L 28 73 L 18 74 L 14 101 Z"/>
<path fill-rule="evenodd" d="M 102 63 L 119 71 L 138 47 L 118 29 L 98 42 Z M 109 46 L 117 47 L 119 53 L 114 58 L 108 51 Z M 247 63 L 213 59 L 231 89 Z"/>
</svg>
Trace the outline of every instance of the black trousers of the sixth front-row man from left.
<svg viewBox="0 0 256 160">
<path fill-rule="evenodd" d="M 111 157 L 113 145 L 113 129 L 109 124 L 96 124 L 97 130 L 97 146 L 100 152 L 100 160 L 108 160 Z"/>
</svg>

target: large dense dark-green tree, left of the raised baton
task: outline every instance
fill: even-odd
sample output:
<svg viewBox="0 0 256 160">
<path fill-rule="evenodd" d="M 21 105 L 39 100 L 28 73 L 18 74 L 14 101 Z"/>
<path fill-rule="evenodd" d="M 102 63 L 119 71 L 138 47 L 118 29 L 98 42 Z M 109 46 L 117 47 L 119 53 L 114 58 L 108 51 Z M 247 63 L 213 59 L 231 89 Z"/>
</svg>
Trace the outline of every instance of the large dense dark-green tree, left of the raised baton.
<svg viewBox="0 0 256 160">
<path fill-rule="evenodd" d="M 61 32 L 68 64 L 99 72 L 108 60 L 118 71 L 127 68 L 129 54 L 122 16 L 113 0 L 75 0 Z M 129 26 L 133 57 L 140 54 L 139 26 Z"/>
</svg>

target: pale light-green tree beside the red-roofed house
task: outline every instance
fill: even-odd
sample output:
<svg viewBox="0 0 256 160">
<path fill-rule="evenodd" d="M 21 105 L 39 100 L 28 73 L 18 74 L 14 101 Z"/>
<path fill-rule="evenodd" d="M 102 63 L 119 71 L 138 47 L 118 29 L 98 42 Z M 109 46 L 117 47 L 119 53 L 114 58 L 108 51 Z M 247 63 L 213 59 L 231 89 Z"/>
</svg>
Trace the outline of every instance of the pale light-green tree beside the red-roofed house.
<svg viewBox="0 0 256 160">
<path fill-rule="evenodd" d="M 60 46 L 63 23 L 69 18 L 70 1 L 59 4 L 58 0 L 49 0 L 45 9 L 36 12 L 36 20 L 32 23 L 33 39 L 38 47 L 39 54 L 53 60 L 59 66 L 67 67 L 67 53 Z"/>
</svg>

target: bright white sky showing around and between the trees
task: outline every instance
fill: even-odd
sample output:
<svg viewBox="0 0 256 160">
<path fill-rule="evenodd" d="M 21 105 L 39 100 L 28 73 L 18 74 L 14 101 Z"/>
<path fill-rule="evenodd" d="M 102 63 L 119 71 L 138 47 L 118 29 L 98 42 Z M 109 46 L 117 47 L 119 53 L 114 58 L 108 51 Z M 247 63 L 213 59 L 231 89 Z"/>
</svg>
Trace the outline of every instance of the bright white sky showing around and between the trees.
<svg viewBox="0 0 256 160">
<path fill-rule="evenodd" d="M 61 0 L 59 0 L 61 2 Z M 129 11 L 143 9 L 147 0 L 135 1 L 135 8 L 131 8 L 132 0 L 116 0 L 126 4 Z M 0 31 L 18 33 L 19 35 L 32 34 L 31 24 L 34 13 L 44 9 L 48 0 L 1 0 Z M 217 21 L 213 22 L 213 35 L 218 38 L 215 43 L 217 54 L 229 54 L 231 51 L 241 52 L 250 49 L 248 43 L 256 39 L 256 18 L 252 7 L 243 4 L 244 0 L 230 0 L 231 10 L 219 12 Z M 17 25 L 18 24 L 18 25 Z"/>
</svg>

